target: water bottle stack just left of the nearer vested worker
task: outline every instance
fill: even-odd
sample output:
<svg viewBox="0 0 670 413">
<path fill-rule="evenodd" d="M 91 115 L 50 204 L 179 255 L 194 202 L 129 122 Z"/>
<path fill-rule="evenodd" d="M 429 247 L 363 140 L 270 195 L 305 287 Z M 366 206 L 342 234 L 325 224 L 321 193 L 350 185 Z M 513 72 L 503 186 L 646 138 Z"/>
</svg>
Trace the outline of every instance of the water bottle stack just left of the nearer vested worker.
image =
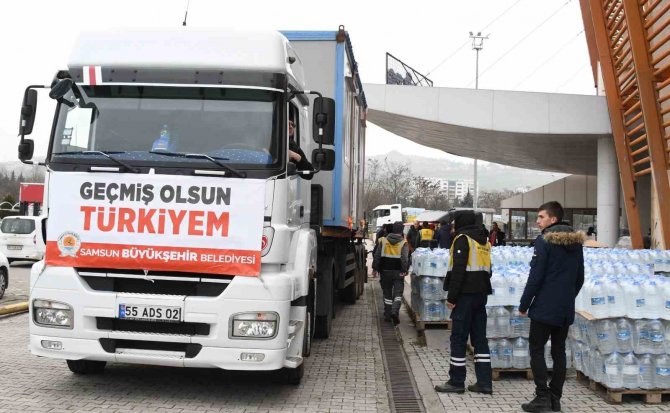
<svg viewBox="0 0 670 413">
<path fill-rule="evenodd" d="M 449 267 L 449 250 L 417 248 L 412 253 L 412 310 L 419 321 L 446 321 L 444 277 Z"/>
</svg>

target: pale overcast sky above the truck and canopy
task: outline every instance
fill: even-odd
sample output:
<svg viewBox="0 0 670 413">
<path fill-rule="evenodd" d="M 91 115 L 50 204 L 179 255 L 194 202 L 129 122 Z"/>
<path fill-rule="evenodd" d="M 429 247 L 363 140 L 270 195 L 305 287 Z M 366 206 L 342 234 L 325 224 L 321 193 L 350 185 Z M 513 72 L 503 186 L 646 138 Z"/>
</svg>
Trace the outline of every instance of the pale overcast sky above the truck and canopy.
<svg viewBox="0 0 670 413">
<path fill-rule="evenodd" d="M 0 161 L 16 160 L 19 110 L 30 84 L 66 67 L 81 30 L 180 26 L 187 0 L 2 2 Z M 188 25 L 336 30 L 345 25 L 364 83 L 384 83 L 389 52 L 439 87 L 473 87 L 469 31 L 490 34 L 480 54 L 480 89 L 594 94 L 578 0 L 350 1 L 191 0 Z M 487 27 L 488 25 L 488 27 Z M 178 56 L 175 56 L 178 59 Z M 445 61 L 446 59 L 446 61 Z M 40 103 L 46 105 L 48 99 Z M 52 113 L 40 106 L 33 133 L 43 154 Z M 49 108 L 49 110 L 51 110 Z M 368 155 L 395 149 L 454 159 L 368 127 Z"/>
</svg>

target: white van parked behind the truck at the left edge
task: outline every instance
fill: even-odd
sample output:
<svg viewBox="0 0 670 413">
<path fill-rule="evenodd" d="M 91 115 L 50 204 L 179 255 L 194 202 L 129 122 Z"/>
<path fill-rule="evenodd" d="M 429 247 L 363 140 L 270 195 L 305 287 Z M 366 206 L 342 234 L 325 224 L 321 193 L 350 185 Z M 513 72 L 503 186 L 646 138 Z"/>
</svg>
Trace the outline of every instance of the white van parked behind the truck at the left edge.
<svg viewBox="0 0 670 413">
<path fill-rule="evenodd" d="M 45 217 L 6 217 L 0 224 L 0 252 L 7 260 L 39 261 L 44 258 L 42 235 Z"/>
</svg>

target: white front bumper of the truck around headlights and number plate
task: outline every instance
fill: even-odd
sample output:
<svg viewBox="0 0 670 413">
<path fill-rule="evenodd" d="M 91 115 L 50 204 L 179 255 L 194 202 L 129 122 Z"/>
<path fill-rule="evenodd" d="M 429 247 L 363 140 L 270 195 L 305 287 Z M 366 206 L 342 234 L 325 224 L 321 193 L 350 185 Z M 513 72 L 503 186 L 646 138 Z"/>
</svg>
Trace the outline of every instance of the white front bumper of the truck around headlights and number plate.
<svg viewBox="0 0 670 413">
<path fill-rule="evenodd" d="M 99 291 L 74 269 L 64 267 L 47 267 L 31 284 L 30 350 L 37 356 L 225 370 L 277 370 L 302 363 L 305 307 L 291 306 L 291 280 L 280 273 L 263 279 L 235 277 L 216 297 Z M 70 305 L 72 328 L 36 324 L 35 299 Z M 165 333 L 151 331 L 156 326 L 146 323 L 121 326 L 121 303 L 180 306 L 181 324 L 197 328 Z M 274 337 L 232 337 L 235 314 L 259 312 L 278 315 Z"/>
</svg>

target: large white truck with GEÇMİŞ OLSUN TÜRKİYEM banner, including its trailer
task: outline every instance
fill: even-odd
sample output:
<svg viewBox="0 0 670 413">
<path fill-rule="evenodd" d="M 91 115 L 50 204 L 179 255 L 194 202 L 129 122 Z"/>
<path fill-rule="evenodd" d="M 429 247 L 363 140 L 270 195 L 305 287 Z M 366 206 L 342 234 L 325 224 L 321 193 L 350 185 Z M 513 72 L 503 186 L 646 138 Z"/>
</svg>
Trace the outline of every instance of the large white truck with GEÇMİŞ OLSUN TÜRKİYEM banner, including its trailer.
<svg viewBox="0 0 670 413">
<path fill-rule="evenodd" d="M 122 362 L 299 383 L 336 297 L 367 280 L 366 103 L 344 28 L 84 33 L 50 86 L 26 89 L 25 163 L 39 89 L 57 107 L 31 352 L 79 374 Z M 289 162 L 289 120 L 313 170 Z"/>
</svg>

